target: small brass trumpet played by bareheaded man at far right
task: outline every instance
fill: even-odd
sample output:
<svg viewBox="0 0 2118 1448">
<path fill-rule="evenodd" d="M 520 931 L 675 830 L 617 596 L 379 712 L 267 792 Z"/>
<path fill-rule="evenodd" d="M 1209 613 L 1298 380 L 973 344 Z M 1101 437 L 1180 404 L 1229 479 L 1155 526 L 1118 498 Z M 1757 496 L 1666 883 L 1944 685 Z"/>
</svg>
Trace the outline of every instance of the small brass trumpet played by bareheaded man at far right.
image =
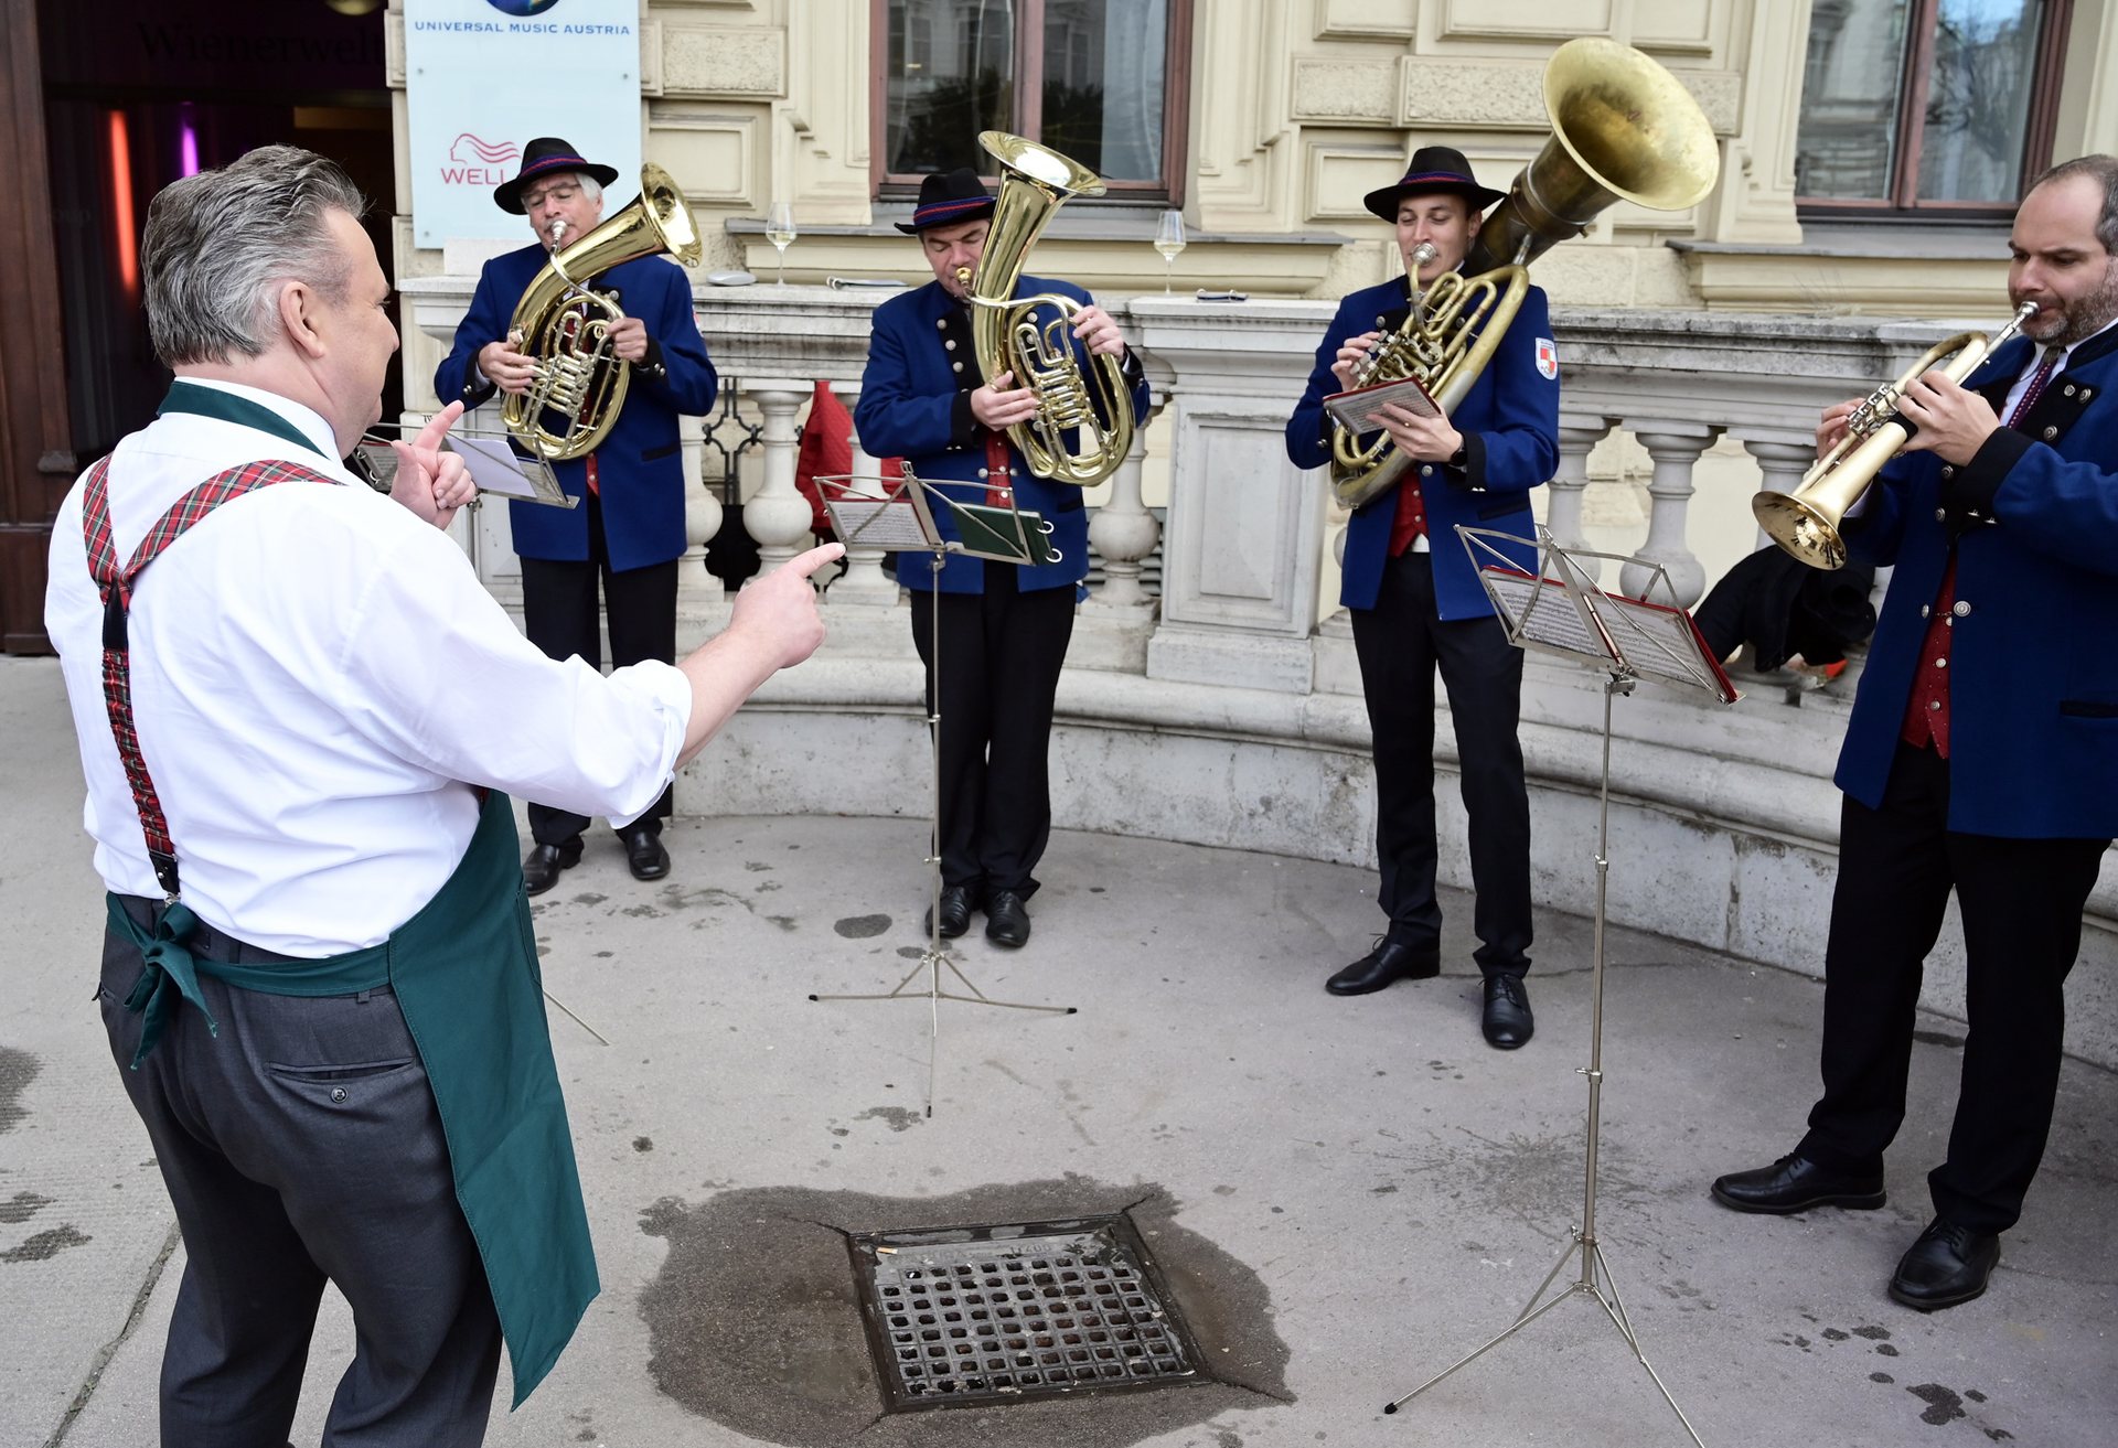
<svg viewBox="0 0 2118 1448">
<path fill-rule="evenodd" d="M 1749 510 L 1773 542 L 1809 567 L 1845 567 L 1847 544 L 1838 529 L 1847 510 L 1860 502 L 1874 474 L 1913 440 L 1913 430 L 1898 419 L 1898 400 L 1915 379 L 1940 368 L 1949 381 L 1963 381 L 1999 351 L 2025 322 L 2038 315 L 2038 303 L 2023 303 L 1993 337 L 1957 332 L 1927 347 L 1925 356 L 1887 381 L 1847 415 L 1847 434 L 1836 447 L 1809 466 L 1792 493 L 1758 493 Z M 1946 362 L 1942 360 L 1946 358 Z"/>
</svg>

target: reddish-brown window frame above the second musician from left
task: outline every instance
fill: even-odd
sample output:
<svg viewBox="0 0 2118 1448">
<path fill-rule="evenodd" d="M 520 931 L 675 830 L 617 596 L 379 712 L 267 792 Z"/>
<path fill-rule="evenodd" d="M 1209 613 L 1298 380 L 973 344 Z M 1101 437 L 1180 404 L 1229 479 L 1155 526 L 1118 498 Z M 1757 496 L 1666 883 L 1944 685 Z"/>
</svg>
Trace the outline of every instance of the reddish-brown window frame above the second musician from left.
<svg viewBox="0 0 2118 1448">
<path fill-rule="evenodd" d="M 1040 140 L 1044 127 L 1044 0 L 1015 0 L 1015 114 L 1017 135 Z M 1163 174 L 1159 180 L 1108 180 L 1103 205 L 1184 205 L 1190 138 L 1192 0 L 1169 0 L 1169 36 L 1163 42 Z M 909 201 L 919 195 L 921 171 L 887 171 L 890 150 L 890 0 L 868 0 L 868 195 Z M 1025 85 L 1025 76 L 1036 85 Z M 987 157 L 989 161 L 989 157 Z M 981 165 L 991 186 L 1000 178 Z M 1082 205 L 1097 205 L 1084 199 Z"/>
</svg>

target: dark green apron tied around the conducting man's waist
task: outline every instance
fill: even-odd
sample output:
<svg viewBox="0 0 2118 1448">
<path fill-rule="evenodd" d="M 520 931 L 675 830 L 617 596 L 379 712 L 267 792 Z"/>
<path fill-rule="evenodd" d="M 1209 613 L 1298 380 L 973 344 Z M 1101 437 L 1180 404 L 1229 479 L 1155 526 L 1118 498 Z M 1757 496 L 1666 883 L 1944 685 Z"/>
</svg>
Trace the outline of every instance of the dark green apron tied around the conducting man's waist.
<svg viewBox="0 0 2118 1448">
<path fill-rule="evenodd" d="M 146 957 L 125 1001 L 144 1012 L 140 1056 L 182 1001 L 205 1012 L 197 976 L 271 995 L 352 995 L 381 984 L 396 991 L 441 1109 L 455 1200 L 500 1313 L 515 1408 L 559 1361 L 597 1293 L 519 851 L 508 798 L 489 794 L 470 849 L 441 893 L 390 940 L 318 961 L 201 961 L 184 948 L 195 919 L 186 906 L 172 904 L 155 929 L 144 929 L 110 898 L 112 929 Z"/>
</svg>

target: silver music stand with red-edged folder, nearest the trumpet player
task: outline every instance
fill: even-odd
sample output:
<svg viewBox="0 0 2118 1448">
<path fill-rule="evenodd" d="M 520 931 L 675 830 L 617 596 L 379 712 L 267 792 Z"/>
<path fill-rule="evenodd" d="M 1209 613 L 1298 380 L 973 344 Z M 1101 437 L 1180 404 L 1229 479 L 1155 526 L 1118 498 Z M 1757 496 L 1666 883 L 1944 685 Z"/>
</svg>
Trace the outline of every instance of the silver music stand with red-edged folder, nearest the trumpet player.
<svg viewBox="0 0 2118 1448">
<path fill-rule="evenodd" d="M 1603 1247 L 1595 1234 L 1597 1137 L 1603 1122 L 1603 904 L 1610 876 L 1610 701 L 1618 694 L 1631 694 L 1639 680 L 1667 684 L 1669 688 L 1707 696 L 1720 705 L 1730 705 L 1741 694 L 1728 684 L 1728 675 L 1722 673 L 1713 652 L 1699 637 L 1692 616 L 1677 605 L 1669 576 L 1658 563 L 1625 559 L 1614 553 L 1567 550 L 1552 542 L 1550 529 L 1542 525 L 1536 540 L 1483 527 L 1457 527 L 1457 536 L 1461 536 L 1464 548 L 1470 553 L 1472 567 L 1478 569 L 1478 582 L 1485 584 L 1487 597 L 1493 599 L 1493 612 L 1508 629 L 1510 644 L 1540 654 L 1572 658 L 1605 675 L 1603 781 L 1597 798 L 1595 849 L 1595 970 L 1588 987 L 1588 1067 L 1582 1071 L 1588 1078 L 1586 1171 L 1582 1179 L 1582 1219 L 1574 1228 L 1574 1241 L 1559 1253 L 1559 1262 L 1544 1274 L 1538 1289 L 1529 1293 L 1529 1302 L 1516 1313 L 1514 1321 L 1411 1393 L 1383 1404 L 1383 1412 L 1396 1412 L 1402 1404 L 1419 1397 L 1457 1368 L 1500 1346 L 1567 1298 L 1593 1298 L 1625 1338 L 1625 1344 L 1633 1349 L 1639 1365 L 1648 1370 L 1663 1401 L 1677 1414 L 1677 1423 L 1684 1425 L 1684 1431 L 1690 1433 L 1699 1448 L 1705 1448 L 1699 1429 L 1677 1408 L 1677 1399 L 1669 1395 L 1669 1387 L 1648 1363 L 1648 1355 L 1639 1351 L 1633 1321 L 1627 1317 L 1618 1283 L 1610 1274 L 1610 1264 L 1603 1260 Z M 1536 548 L 1538 572 L 1525 574 L 1493 540 Z M 1641 589 L 1639 599 L 1603 593 L 1578 559 L 1635 563 L 1650 569 L 1648 586 Z M 1648 601 L 1656 589 L 1669 599 L 1667 603 Z M 1580 1274 L 1546 1298 L 1544 1293 L 1557 1281 L 1559 1270 L 1576 1255 L 1580 1255 Z"/>
</svg>

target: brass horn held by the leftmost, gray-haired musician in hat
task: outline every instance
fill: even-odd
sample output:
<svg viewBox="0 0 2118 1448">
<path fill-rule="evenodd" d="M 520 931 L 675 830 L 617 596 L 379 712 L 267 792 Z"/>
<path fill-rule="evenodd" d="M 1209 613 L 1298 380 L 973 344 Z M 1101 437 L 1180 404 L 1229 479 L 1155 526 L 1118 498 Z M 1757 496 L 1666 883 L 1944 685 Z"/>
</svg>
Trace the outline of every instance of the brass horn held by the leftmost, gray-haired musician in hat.
<svg viewBox="0 0 2118 1448">
<path fill-rule="evenodd" d="M 563 222 L 553 222 L 563 241 Z M 693 267 L 703 256 L 699 227 L 669 171 L 640 167 L 640 199 L 595 231 L 551 254 L 515 303 L 508 341 L 536 360 L 527 392 L 510 392 L 500 421 L 546 461 L 593 453 L 618 421 L 631 368 L 610 354 L 610 328 L 625 320 L 589 282 L 621 263 L 667 252 Z M 568 419 L 566 432 L 544 426 L 544 413 Z"/>
</svg>

